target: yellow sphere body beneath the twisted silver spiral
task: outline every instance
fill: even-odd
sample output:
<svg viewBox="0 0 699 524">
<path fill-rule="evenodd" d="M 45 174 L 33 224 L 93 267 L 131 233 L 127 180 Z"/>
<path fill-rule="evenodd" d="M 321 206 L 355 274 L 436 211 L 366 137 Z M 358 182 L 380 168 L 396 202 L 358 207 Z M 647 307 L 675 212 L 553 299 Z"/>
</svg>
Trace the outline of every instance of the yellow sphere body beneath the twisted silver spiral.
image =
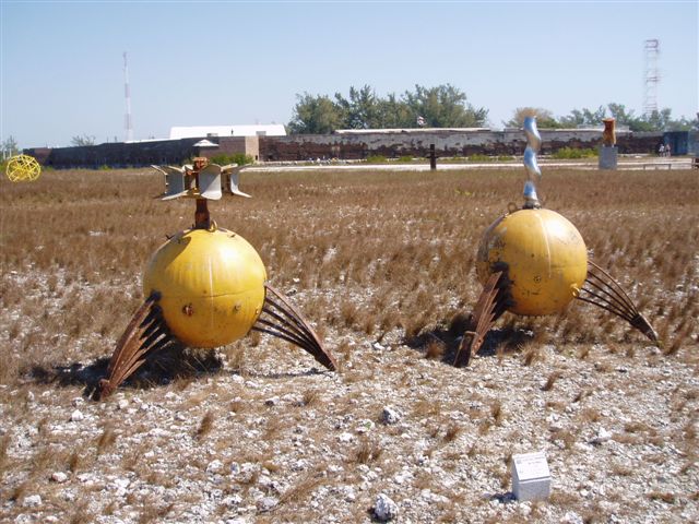
<svg viewBox="0 0 699 524">
<path fill-rule="evenodd" d="M 507 264 L 517 314 L 552 314 L 578 296 L 588 275 L 582 236 L 558 213 L 520 210 L 488 227 L 478 247 L 476 271 L 485 283 Z"/>
</svg>

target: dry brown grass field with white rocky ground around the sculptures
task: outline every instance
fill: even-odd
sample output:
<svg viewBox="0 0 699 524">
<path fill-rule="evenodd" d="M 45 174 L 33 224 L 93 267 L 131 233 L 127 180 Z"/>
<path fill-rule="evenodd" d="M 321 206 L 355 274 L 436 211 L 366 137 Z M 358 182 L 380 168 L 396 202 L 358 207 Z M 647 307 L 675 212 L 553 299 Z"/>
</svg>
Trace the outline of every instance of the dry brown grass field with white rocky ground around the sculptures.
<svg viewBox="0 0 699 524">
<path fill-rule="evenodd" d="M 577 302 L 506 314 L 455 369 L 479 237 L 523 180 L 244 174 L 253 198 L 212 217 L 259 250 L 339 372 L 253 335 L 169 355 L 96 403 L 85 386 L 142 300 L 141 271 L 193 203 L 153 199 L 151 169 L 3 178 L 0 521 L 371 522 L 386 493 L 398 522 L 697 522 L 697 172 L 545 170 L 541 188 L 662 347 Z M 546 502 L 509 495 L 510 457 L 530 451 L 549 462 Z"/>
</svg>

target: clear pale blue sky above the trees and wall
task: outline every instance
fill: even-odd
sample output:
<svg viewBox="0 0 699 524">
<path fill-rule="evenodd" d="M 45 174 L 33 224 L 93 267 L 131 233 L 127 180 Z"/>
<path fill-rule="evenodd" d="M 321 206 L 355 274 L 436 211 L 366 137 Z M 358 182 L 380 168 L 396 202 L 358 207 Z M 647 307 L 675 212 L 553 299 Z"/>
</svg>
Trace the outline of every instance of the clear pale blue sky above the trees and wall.
<svg viewBox="0 0 699 524">
<path fill-rule="evenodd" d="M 450 83 L 499 127 L 643 107 L 643 41 L 661 46 L 660 107 L 699 110 L 699 12 L 684 2 L 173 2 L 0 0 L 0 134 L 20 147 L 135 139 L 173 126 L 286 123 L 296 94 Z"/>
</svg>

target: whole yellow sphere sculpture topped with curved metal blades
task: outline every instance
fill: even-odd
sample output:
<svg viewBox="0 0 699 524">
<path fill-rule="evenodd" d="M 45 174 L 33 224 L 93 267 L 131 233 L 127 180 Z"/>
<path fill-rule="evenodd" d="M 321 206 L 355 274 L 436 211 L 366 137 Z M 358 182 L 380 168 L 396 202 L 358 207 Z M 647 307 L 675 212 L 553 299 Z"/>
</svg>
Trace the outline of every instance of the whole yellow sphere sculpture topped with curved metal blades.
<svg viewBox="0 0 699 524">
<path fill-rule="evenodd" d="M 218 166 L 206 158 L 192 165 L 153 166 L 165 175 L 162 200 L 196 199 L 194 226 L 168 239 L 155 252 L 143 276 L 146 297 L 119 338 L 107 377 L 97 394 L 104 398 L 144 361 L 174 341 L 212 348 L 229 344 L 251 330 L 301 347 L 330 370 L 336 368 L 313 329 L 281 291 L 266 283 L 254 248 L 211 219 L 209 200 L 238 189 L 235 164 Z M 223 180 L 223 182 L 222 182 Z"/>
</svg>

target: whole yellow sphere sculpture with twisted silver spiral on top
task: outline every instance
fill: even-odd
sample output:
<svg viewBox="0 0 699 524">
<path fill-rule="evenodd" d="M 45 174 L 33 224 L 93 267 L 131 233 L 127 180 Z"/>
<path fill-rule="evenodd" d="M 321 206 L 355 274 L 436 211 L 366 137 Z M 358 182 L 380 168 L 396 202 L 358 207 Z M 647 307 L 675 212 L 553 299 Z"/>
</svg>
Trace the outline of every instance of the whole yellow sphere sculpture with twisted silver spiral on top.
<svg viewBox="0 0 699 524">
<path fill-rule="evenodd" d="M 500 216 L 481 240 L 476 272 L 483 291 L 461 340 L 454 366 L 469 365 L 487 332 L 506 311 L 522 315 L 553 314 L 564 311 L 573 298 L 616 314 L 657 342 L 657 334 L 621 286 L 588 260 L 585 242 L 576 226 L 558 213 L 542 209 L 536 195 L 542 174 L 536 163 L 541 136 L 535 117 L 524 119 L 524 134 L 528 142 L 524 205 Z"/>
</svg>

